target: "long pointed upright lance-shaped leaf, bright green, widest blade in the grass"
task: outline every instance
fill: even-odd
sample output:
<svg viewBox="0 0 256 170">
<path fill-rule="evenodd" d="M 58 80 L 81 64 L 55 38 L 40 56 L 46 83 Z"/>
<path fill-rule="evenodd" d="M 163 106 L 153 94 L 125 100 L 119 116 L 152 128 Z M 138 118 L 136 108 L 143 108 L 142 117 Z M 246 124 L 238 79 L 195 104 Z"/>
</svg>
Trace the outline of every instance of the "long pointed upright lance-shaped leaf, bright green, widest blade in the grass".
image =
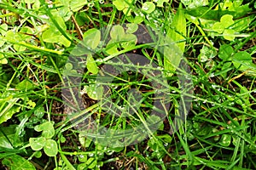
<svg viewBox="0 0 256 170">
<path fill-rule="evenodd" d="M 172 20 L 171 27 L 167 31 L 166 43 L 172 44 L 173 42 L 185 40 L 186 34 L 186 18 L 182 4 L 180 4 L 179 8 L 177 9 L 177 14 Z M 167 71 L 176 70 L 176 67 L 179 65 L 182 59 L 185 44 L 186 42 L 178 42 L 177 46 L 171 45 L 164 48 L 164 67 Z M 172 76 L 172 73 L 169 76 Z"/>
</svg>

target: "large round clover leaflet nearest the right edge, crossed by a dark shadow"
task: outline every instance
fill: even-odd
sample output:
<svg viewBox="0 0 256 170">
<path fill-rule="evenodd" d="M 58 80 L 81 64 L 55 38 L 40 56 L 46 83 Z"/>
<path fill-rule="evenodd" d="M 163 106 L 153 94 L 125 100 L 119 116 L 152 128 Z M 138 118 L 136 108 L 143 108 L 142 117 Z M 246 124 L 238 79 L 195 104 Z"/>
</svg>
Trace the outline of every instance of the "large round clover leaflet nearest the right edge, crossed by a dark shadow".
<svg viewBox="0 0 256 170">
<path fill-rule="evenodd" d="M 240 71 L 246 71 L 253 64 L 253 59 L 246 51 L 241 51 L 234 54 L 232 62 L 236 69 L 239 68 Z"/>
</svg>

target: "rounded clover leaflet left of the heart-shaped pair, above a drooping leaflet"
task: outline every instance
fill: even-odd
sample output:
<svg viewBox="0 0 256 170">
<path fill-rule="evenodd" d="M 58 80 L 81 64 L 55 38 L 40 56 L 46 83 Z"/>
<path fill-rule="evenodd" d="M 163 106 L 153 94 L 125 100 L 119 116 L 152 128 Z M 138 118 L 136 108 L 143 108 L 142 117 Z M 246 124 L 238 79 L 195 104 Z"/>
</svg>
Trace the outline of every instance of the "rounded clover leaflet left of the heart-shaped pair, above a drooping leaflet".
<svg viewBox="0 0 256 170">
<path fill-rule="evenodd" d="M 83 35 L 84 39 L 82 44 L 85 48 L 95 49 L 101 42 L 101 31 L 96 28 L 85 31 Z"/>
</svg>

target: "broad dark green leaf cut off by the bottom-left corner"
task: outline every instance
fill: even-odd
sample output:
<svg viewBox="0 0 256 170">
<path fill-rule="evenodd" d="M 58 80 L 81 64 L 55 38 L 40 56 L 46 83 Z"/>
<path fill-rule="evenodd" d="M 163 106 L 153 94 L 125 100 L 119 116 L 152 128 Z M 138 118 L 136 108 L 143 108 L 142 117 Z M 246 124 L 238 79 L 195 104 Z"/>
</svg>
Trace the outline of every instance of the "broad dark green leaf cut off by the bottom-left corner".
<svg viewBox="0 0 256 170">
<path fill-rule="evenodd" d="M 6 156 L 2 163 L 10 170 L 36 170 L 30 161 L 18 155 Z"/>
</svg>

